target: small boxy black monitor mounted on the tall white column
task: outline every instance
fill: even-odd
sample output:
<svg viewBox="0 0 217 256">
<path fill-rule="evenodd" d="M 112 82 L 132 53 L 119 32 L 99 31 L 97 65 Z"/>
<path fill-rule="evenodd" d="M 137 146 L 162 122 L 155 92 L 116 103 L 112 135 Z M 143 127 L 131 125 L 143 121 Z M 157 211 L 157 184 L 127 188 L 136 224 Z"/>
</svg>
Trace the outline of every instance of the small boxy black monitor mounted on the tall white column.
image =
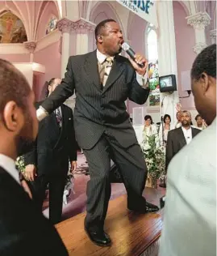
<svg viewBox="0 0 217 256">
<path fill-rule="evenodd" d="M 177 82 L 175 75 L 164 75 L 159 78 L 160 92 L 177 91 Z"/>
</svg>

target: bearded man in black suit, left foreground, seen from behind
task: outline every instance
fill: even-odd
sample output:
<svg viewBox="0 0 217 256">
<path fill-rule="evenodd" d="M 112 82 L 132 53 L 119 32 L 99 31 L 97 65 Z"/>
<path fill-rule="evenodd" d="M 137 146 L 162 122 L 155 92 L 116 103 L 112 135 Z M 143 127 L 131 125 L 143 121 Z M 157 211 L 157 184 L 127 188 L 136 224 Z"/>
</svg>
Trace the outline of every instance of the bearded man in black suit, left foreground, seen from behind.
<svg viewBox="0 0 217 256">
<path fill-rule="evenodd" d="M 0 59 L 0 255 L 68 255 L 56 229 L 20 186 L 17 156 L 29 150 L 38 122 L 34 94 L 15 66 Z"/>
</svg>

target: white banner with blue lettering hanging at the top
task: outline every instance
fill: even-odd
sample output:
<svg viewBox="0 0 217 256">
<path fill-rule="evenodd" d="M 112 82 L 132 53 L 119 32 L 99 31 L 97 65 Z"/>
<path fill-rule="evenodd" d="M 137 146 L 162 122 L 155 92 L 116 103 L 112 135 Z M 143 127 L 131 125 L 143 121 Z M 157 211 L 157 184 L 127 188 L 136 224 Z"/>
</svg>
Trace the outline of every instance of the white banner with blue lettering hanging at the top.
<svg viewBox="0 0 217 256">
<path fill-rule="evenodd" d="M 156 1 L 153 0 L 116 0 L 121 5 L 127 7 L 130 11 L 139 15 L 142 19 L 152 23 L 156 28 L 158 27 L 156 16 Z"/>
</svg>

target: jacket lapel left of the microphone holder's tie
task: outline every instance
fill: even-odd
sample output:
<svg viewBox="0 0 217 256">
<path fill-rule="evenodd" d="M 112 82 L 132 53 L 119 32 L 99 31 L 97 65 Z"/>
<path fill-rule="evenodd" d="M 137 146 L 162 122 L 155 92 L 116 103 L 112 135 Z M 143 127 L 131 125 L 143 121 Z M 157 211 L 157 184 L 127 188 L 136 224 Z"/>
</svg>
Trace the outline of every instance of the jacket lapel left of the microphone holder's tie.
<svg viewBox="0 0 217 256">
<path fill-rule="evenodd" d="M 100 78 L 98 74 L 98 60 L 96 50 L 87 56 L 84 64 L 84 70 L 88 77 L 87 81 L 90 84 L 94 83 L 94 86 L 100 90 Z"/>
</svg>

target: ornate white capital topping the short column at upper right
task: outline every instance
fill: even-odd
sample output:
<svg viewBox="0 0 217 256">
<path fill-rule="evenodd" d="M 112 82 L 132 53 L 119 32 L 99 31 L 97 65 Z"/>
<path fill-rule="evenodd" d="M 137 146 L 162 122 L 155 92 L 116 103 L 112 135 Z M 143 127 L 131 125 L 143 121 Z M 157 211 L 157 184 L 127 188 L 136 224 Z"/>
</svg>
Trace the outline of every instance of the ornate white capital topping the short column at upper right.
<svg viewBox="0 0 217 256">
<path fill-rule="evenodd" d="M 211 23 L 211 17 L 207 12 L 198 12 L 195 15 L 186 17 L 187 23 L 194 29 L 204 29 Z"/>
</svg>

